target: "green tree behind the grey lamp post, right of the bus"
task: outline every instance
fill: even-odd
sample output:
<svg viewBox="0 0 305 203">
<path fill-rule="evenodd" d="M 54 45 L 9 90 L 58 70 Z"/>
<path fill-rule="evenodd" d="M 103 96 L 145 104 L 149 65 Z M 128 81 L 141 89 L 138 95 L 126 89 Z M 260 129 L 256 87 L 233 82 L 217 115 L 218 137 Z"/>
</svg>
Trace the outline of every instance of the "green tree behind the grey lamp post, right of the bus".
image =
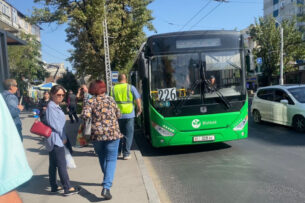
<svg viewBox="0 0 305 203">
<path fill-rule="evenodd" d="M 305 57 L 305 42 L 302 41 L 302 33 L 296 28 L 294 20 L 283 20 L 284 29 L 284 72 L 296 70 L 294 63 L 297 59 Z M 280 66 L 280 27 L 275 19 L 259 18 L 250 26 L 250 36 L 257 43 L 253 53 L 255 58 L 262 57 L 262 72 L 271 84 L 272 77 L 279 75 Z"/>
</svg>

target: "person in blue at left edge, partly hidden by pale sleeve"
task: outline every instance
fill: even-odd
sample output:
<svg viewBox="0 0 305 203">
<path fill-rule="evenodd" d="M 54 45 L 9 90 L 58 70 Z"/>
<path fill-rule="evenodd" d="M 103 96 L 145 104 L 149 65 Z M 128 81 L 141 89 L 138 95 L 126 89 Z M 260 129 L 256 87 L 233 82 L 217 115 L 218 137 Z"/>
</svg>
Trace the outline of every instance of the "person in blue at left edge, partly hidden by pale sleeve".
<svg viewBox="0 0 305 203">
<path fill-rule="evenodd" d="M 14 79 L 7 79 L 4 81 L 3 86 L 4 86 L 4 91 L 2 93 L 2 96 L 13 117 L 17 130 L 19 132 L 20 138 L 23 141 L 22 123 L 21 123 L 19 114 L 21 111 L 23 111 L 24 107 L 21 104 L 19 104 L 18 98 L 15 95 L 18 90 L 17 82 Z"/>
</svg>

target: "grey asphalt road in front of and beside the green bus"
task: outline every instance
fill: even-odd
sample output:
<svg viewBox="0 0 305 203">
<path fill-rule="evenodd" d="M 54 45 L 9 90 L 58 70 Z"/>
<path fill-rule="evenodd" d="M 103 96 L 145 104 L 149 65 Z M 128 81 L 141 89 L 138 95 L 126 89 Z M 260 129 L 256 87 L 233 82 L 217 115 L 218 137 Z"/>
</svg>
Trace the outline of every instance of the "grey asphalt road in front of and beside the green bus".
<svg viewBox="0 0 305 203">
<path fill-rule="evenodd" d="M 154 149 L 136 141 L 162 202 L 305 202 L 305 134 L 249 118 L 245 140 Z"/>
</svg>

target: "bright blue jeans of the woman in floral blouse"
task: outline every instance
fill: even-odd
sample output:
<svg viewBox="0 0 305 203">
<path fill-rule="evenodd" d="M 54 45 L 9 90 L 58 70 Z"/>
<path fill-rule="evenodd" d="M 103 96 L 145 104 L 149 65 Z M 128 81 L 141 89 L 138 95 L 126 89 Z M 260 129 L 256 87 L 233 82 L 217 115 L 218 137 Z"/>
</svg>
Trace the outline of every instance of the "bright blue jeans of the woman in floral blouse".
<svg viewBox="0 0 305 203">
<path fill-rule="evenodd" d="M 102 186 L 106 189 L 110 189 L 112 186 L 119 143 L 119 139 L 93 142 L 94 150 L 98 155 L 100 166 L 104 173 Z"/>
</svg>

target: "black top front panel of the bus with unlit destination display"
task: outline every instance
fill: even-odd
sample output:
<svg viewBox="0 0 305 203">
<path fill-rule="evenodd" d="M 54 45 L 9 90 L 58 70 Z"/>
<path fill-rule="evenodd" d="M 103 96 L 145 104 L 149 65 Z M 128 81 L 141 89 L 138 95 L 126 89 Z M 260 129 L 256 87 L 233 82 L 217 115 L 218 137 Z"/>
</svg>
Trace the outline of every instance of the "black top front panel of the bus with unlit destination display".
<svg viewBox="0 0 305 203">
<path fill-rule="evenodd" d="M 145 55 L 163 55 L 194 51 L 241 49 L 242 35 L 234 30 L 172 32 L 150 36 Z"/>
</svg>

